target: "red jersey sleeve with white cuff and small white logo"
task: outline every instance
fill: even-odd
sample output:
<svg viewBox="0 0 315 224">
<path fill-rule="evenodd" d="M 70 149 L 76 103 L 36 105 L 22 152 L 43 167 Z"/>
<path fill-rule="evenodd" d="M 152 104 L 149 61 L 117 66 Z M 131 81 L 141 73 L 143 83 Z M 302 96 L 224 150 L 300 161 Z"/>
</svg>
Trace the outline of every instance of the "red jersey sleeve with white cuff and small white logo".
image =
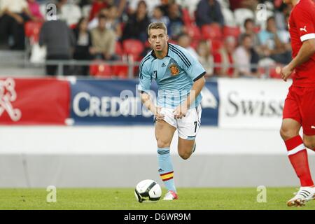
<svg viewBox="0 0 315 224">
<path fill-rule="evenodd" d="M 315 38 L 315 17 L 312 15 L 314 10 L 310 8 L 296 8 L 293 20 L 299 31 L 301 41 Z"/>
</svg>

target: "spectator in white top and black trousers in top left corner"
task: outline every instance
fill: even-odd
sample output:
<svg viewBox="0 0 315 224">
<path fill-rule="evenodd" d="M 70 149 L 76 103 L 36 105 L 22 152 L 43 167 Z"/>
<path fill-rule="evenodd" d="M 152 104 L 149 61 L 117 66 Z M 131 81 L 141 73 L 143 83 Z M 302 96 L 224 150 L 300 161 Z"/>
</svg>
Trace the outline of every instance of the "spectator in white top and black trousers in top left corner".
<svg viewBox="0 0 315 224">
<path fill-rule="evenodd" d="M 1 0 L 0 2 L 0 48 L 24 50 L 24 24 L 28 20 L 38 21 L 31 14 L 26 0 Z M 9 36 L 14 43 L 9 43 Z"/>
</svg>

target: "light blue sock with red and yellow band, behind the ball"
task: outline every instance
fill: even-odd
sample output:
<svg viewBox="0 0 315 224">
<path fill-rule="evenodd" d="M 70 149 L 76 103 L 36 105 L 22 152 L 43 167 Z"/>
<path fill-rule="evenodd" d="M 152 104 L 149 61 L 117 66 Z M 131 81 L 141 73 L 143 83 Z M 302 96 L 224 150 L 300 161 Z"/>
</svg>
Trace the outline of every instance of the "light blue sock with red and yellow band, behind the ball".
<svg viewBox="0 0 315 224">
<path fill-rule="evenodd" d="M 159 174 L 167 190 L 176 192 L 174 171 L 168 148 L 158 148 Z"/>
</svg>

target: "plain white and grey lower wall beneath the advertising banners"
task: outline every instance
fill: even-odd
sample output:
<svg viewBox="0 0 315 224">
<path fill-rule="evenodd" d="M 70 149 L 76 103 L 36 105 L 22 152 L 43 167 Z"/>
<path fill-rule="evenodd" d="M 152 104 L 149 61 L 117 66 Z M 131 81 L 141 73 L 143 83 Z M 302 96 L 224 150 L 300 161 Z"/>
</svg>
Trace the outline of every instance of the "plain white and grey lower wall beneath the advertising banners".
<svg viewBox="0 0 315 224">
<path fill-rule="evenodd" d="M 160 182 L 151 126 L 0 127 L 0 137 L 1 188 L 134 187 L 142 179 Z M 277 130 L 202 127 L 197 151 L 189 160 L 177 155 L 176 139 L 177 134 L 171 151 L 178 186 L 298 185 Z M 309 160 L 315 171 L 314 155 Z"/>
</svg>

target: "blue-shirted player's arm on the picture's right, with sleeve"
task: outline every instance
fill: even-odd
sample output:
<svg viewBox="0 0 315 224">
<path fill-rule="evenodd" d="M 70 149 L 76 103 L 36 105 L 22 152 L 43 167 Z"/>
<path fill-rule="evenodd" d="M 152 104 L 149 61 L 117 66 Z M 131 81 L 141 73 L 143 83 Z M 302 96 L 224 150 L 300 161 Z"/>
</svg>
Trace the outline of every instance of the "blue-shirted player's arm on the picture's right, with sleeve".
<svg viewBox="0 0 315 224">
<path fill-rule="evenodd" d="M 175 118 L 183 118 L 183 116 L 186 116 L 188 109 L 190 109 L 190 106 L 195 103 L 195 99 L 200 94 L 202 87 L 204 87 L 204 84 L 206 83 L 206 80 L 204 79 L 206 71 L 200 62 L 198 62 L 198 60 L 191 56 L 188 52 L 186 54 L 186 63 L 183 62 L 182 67 L 186 70 L 186 73 L 188 73 L 188 76 L 190 76 L 194 83 L 190 89 L 187 99 L 174 110 Z"/>
</svg>

